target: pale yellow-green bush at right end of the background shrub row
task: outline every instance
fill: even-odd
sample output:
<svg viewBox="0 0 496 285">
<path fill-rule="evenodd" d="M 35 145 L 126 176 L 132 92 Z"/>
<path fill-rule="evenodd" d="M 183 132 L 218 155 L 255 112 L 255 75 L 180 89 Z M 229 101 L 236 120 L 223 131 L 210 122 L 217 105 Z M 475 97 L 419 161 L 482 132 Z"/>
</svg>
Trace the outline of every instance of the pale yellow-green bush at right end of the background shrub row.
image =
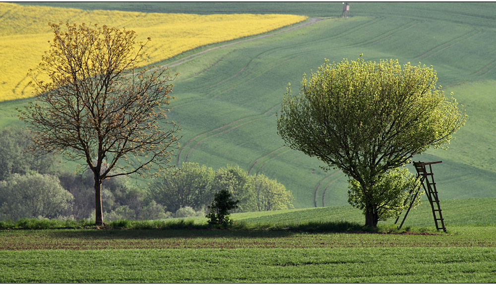
<svg viewBox="0 0 496 285">
<path fill-rule="evenodd" d="M 256 192 L 256 206 L 258 211 L 284 210 L 293 207 L 293 194 L 276 179 L 270 179 L 263 174 L 253 178 Z"/>
</svg>

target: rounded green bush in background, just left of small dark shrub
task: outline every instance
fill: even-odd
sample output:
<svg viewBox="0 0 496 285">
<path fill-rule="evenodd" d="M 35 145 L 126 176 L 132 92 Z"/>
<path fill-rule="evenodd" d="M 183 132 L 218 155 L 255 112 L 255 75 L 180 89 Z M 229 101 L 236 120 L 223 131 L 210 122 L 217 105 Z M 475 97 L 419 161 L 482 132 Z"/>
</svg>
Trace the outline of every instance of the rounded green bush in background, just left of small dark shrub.
<svg viewBox="0 0 496 285">
<path fill-rule="evenodd" d="M 199 210 L 213 199 L 214 175 L 211 168 L 184 162 L 177 172 L 154 179 L 150 196 L 173 213 L 186 206 Z"/>
</svg>

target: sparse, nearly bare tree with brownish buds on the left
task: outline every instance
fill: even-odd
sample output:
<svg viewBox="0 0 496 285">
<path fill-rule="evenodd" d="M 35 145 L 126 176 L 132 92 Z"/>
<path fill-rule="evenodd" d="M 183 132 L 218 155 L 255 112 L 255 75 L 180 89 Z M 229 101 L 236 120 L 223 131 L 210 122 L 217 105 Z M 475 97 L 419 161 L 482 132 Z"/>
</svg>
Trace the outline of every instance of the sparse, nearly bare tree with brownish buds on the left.
<svg viewBox="0 0 496 285">
<path fill-rule="evenodd" d="M 54 41 L 31 71 L 38 102 L 20 118 L 32 130 L 33 152 L 62 153 L 93 172 L 95 222 L 102 225 L 104 179 L 171 167 L 179 146 L 179 126 L 166 115 L 174 78 L 167 69 L 136 70 L 146 43 L 136 42 L 134 31 L 49 25 Z"/>
</svg>

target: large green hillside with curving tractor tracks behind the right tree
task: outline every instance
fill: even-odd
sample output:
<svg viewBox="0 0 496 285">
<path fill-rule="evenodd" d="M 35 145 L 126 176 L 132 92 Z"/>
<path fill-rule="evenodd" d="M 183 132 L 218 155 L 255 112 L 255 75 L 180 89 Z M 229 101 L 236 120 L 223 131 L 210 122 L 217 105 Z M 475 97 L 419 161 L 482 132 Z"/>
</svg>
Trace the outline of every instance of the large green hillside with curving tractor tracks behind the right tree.
<svg viewBox="0 0 496 285">
<path fill-rule="evenodd" d="M 58 5 L 157 12 L 341 14 L 340 3 Z M 491 144 L 496 140 L 496 127 L 491 99 L 496 62 L 488 58 L 496 56 L 492 49 L 495 9 L 494 3 L 354 3 L 349 19 L 324 18 L 303 29 L 215 50 L 174 67 L 182 75 L 175 84 L 178 100 L 171 118 L 185 129 L 179 162 L 187 157 L 187 161 L 214 168 L 238 164 L 251 173 L 261 171 L 293 190 L 297 208 L 313 206 L 317 185 L 318 206 L 326 186 L 324 204 L 345 205 L 346 177 L 338 171 L 325 173 L 318 168 L 318 160 L 283 148 L 274 114 L 287 83 L 292 83 L 295 92 L 302 74 L 316 69 L 324 57 L 340 61 L 363 53 L 366 60 L 398 58 L 434 66 L 438 84 L 448 94 L 455 92 L 470 119 L 449 150 L 430 150 L 415 159 L 443 161 L 434 166 L 442 199 L 494 197 L 495 150 Z M 3 114 L 2 124 L 10 121 Z"/>
</svg>

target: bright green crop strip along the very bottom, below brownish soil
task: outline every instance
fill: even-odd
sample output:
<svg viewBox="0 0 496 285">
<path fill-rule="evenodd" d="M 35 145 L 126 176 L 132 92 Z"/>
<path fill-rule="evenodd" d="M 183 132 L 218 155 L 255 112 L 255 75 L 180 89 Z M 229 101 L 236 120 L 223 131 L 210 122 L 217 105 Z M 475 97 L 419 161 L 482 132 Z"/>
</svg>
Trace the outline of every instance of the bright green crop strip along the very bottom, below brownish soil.
<svg viewBox="0 0 496 285">
<path fill-rule="evenodd" d="M 28 250 L 0 255 L 3 283 L 492 283 L 496 249 Z"/>
</svg>

